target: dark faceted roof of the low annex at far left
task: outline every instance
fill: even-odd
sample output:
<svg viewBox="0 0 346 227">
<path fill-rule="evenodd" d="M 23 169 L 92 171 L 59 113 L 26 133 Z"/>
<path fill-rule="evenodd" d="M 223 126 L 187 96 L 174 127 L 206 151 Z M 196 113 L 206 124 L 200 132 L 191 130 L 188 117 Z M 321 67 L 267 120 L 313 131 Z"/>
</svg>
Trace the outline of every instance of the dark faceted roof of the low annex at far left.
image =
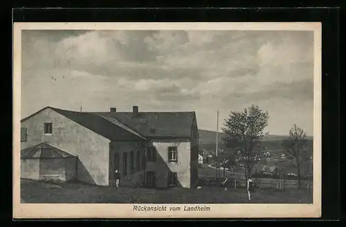
<svg viewBox="0 0 346 227">
<path fill-rule="evenodd" d="M 34 145 L 32 147 L 27 147 L 21 150 L 21 158 L 71 158 L 75 157 L 75 154 L 66 152 L 59 147 L 55 147 L 50 143 L 44 142 Z"/>
</svg>

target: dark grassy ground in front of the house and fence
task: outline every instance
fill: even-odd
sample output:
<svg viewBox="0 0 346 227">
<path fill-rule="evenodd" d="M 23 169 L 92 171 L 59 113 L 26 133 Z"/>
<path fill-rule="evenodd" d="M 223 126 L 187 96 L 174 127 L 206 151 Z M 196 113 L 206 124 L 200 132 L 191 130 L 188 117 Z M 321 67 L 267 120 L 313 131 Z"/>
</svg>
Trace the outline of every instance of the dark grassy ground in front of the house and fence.
<svg viewBox="0 0 346 227">
<path fill-rule="evenodd" d="M 108 188 L 83 183 L 43 183 L 21 180 L 21 201 L 25 203 L 248 203 L 244 189 L 202 187 L 172 188 Z M 311 203 L 306 190 L 257 190 L 252 203 Z"/>
</svg>

